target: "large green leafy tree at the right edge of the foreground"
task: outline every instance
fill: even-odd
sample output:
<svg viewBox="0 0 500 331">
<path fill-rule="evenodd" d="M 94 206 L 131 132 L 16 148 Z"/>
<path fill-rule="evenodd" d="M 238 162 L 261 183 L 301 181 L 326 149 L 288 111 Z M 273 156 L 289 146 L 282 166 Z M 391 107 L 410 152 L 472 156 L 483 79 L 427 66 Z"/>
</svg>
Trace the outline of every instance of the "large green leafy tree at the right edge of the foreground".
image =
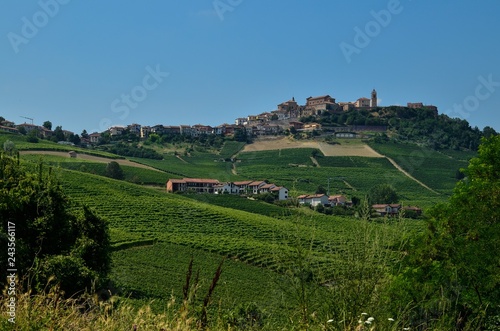
<svg viewBox="0 0 500 331">
<path fill-rule="evenodd" d="M 406 301 L 425 303 L 418 323 L 446 319 L 450 330 L 493 330 L 489 319 L 500 315 L 500 136 L 483 138 L 464 172 L 449 202 L 431 210 L 426 231 L 407 247 L 394 287 Z"/>
</svg>

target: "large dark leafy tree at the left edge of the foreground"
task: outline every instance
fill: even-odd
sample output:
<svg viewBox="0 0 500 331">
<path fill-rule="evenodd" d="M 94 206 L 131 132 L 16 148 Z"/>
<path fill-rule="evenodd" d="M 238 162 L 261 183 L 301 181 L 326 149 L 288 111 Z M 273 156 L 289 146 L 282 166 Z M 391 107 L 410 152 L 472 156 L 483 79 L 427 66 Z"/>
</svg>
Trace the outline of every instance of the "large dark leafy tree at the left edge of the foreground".
<svg viewBox="0 0 500 331">
<path fill-rule="evenodd" d="M 29 279 L 31 290 L 42 290 L 49 279 L 71 296 L 106 279 L 110 263 L 107 223 L 88 208 L 78 212 L 60 184 L 43 164 L 26 170 L 19 159 L 0 153 L 0 245 L 12 242 L 15 229 L 15 266 Z M 9 233 L 10 232 L 10 233 Z M 7 265 L 7 249 L 0 263 Z M 0 286 L 7 269 L 0 270 Z"/>
</svg>

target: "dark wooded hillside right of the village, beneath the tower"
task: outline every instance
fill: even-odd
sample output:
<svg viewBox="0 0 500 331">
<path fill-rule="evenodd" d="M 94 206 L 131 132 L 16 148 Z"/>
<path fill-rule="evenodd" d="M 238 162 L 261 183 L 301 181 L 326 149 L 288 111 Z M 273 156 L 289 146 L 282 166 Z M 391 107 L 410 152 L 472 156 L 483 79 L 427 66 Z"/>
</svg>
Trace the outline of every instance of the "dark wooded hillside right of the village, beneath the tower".
<svg viewBox="0 0 500 331">
<path fill-rule="evenodd" d="M 334 114 L 324 112 L 318 117 L 301 118 L 302 122 L 319 122 L 323 128 L 346 125 L 387 126 L 387 134 L 377 142 L 413 142 L 436 150 L 477 150 L 481 137 L 496 134 L 490 127 L 472 128 L 466 120 L 450 118 L 431 109 L 390 106 L 372 110 L 351 110 Z"/>
</svg>

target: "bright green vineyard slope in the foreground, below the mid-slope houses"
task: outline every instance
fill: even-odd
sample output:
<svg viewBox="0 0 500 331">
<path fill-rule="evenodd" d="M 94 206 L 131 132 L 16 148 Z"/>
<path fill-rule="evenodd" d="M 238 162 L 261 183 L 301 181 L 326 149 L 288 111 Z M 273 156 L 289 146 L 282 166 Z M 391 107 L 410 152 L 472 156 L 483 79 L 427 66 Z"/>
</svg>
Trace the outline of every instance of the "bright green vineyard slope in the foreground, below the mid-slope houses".
<svg viewBox="0 0 500 331">
<path fill-rule="evenodd" d="M 312 248 L 308 261 L 321 283 L 348 272 L 346 261 L 350 260 L 345 254 L 355 256 L 371 241 L 363 231 L 392 234 L 384 239 L 386 247 L 402 231 L 402 227 L 390 224 L 361 225 L 348 218 L 286 215 L 271 205 L 262 211 L 265 208 L 258 201 L 245 207 L 261 209 L 251 213 L 234 209 L 247 202 L 239 197 L 230 197 L 227 207 L 220 207 L 212 204 L 215 200 L 211 198 L 208 204 L 63 167 L 56 175 L 72 201 L 89 205 L 109 221 L 113 247 L 117 248 L 112 271 L 117 288 L 123 295 L 144 295 L 161 302 L 168 300 L 172 291 L 179 293 L 191 255 L 206 264 L 200 267 L 206 272 L 213 272 L 226 257 L 227 279 L 218 295 L 230 303 L 228 307 L 236 301 L 259 302 L 273 310 L 281 306 L 269 300 L 269 293 L 280 289 L 275 285 L 279 282 L 272 279 L 293 268 L 297 243 Z M 379 236 L 373 238 L 379 240 Z M 203 278 L 209 277 L 203 274 Z M 262 286 L 269 292 L 262 292 Z"/>
</svg>

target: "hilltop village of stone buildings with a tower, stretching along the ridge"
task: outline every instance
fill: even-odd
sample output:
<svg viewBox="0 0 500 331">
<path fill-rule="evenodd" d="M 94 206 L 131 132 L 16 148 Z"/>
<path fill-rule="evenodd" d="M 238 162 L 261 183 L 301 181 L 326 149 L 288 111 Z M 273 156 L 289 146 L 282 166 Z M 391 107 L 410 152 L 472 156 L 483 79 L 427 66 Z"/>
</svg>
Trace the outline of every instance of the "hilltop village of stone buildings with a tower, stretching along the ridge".
<svg viewBox="0 0 500 331">
<path fill-rule="evenodd" d="M 236 118 L 234 124 L 221 124 L 212 127 L 204 124 L 196 125 L 164 125 L 157 124 L 154 126 L 141 125 L 137 123 L 128 126 L 112 126 L 103 132 L 93 132 L 88 134 L 85 130 L 81 135 L 74 132 L 62 130 L 57 127 L 52 130 L 46 125 L 35 125 L 33 119 L 31 123 L 16 124 L 14 122 L 3 120 L 0 121 L 0 131 L 20 132 L 37 136 L 39 138 L 52 139 L 58 141 L 68 141 L 77 145 L 99 144 L 103 137 L 116 137 L 123 134 L 132 134 L 140 139 L 147 139 L 150 134 L 179 134 L 192 137 L 201 135 L 224 135 L 232 136 L 237 133 L 243 133 L 249 137 L 258 137 L 266 135 L 278 135 L 287 132 L 287 130 L 299 132 L 321 131 L 320 124 L 315 122 L 303 123 L 301 118 L 316 117 L 328 112 L 330 114 L 341 114 L 352 110 L 372 110 L 378 107 L 377 91 L 374 89 L 371 92 L 371 97 L 361 97 L 354 102 L 337 102 L 330 95 L 308 97 L 305 105 L 299 105 L 295 98 L 282 102 L 277 105 L 277 109 L 263 112 L 257 115 L 248 115 L 246 117 Z M 408 103 L 408 108 L 413 109 L 429 109 L 437 114 L 437 107 L 433 105 L 424 105 L 421 102 Z M 1 119 L 0 119 L 1 120 Z M 336 132 L 339 137 L 345 135 L 345 132 L 361 132 L 361 131 L 385 131 L 385 126 L 344 126 L 330 128 Z M 342 133 L 344 132 L 344 133 Z M 57 137 L 56 137 L 57 136 Z"/>
</svg>

